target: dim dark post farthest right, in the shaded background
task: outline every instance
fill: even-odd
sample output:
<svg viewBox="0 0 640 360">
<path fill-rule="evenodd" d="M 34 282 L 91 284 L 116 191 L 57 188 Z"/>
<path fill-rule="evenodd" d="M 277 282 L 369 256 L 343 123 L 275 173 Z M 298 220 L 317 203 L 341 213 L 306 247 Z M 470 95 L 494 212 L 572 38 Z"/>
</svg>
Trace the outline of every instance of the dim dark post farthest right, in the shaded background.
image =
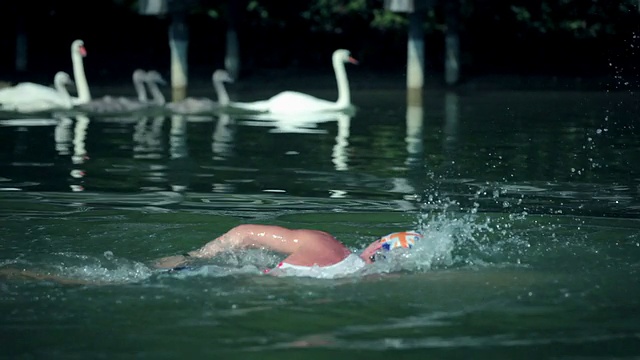
<svg viewBox="0 0 640 360">
<path fill-rule="evenodd" d="M 445 31 L 444 77 L 447 85 L 454 85 L 460 80 L 460 2 L 447 0 L 445 3 L 447 28 Z"/>
</svg>

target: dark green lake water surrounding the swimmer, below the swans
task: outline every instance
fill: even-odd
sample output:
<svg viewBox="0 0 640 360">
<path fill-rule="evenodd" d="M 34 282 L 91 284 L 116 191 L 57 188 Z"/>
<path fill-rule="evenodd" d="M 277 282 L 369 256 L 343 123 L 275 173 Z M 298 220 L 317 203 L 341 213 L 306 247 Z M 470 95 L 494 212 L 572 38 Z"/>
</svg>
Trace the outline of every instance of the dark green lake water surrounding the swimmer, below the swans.
<svg viewBox="0 0 640 360">
<path fill-rule="evenodd" d="M 3 115 L 0 269 L 96 284 L 0 278 L 0 357 L 640 356 L 635 94 L 353 102 L 296 123 Z M 428 241 L 336 280 L 264 275 L 279 258 L 260 251 L 147 266 L 249 222 L 354 251 L 404 229 Z"/>
</svg>

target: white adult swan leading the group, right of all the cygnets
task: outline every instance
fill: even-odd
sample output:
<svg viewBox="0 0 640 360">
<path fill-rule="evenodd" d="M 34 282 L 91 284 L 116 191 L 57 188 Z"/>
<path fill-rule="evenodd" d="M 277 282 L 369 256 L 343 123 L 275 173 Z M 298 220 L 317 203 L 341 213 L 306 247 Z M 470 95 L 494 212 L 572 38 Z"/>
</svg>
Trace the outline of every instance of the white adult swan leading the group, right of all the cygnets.
<svg viewBox="0 0 640 360">
<path fill-rule="evenodd" d="M 358 62 L 351 57 L 351 53 L 348 50 L 344 49 L 334 51 L 331 60 L 333 63 L 333 70 L 336 75 L 336 81 L 338 83 L 338 100 L 335 102 L 319 99 L 300 92 L 285 91 L 268 100 L 256 102 L 231 102 L 229 107 L 273 114 L 332 112 L 349 109 L 352 107 L 351 94 L 344 63 L 350 62 L 357 64 Z"/>
</svg>

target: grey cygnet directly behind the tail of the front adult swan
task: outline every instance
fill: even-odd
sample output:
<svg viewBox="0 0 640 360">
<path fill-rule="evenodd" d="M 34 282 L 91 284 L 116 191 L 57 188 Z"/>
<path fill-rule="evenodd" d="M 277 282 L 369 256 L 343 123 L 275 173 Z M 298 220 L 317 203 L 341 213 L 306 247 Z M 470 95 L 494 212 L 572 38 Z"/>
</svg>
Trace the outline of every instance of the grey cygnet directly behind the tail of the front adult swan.
<svg viewBox="0 0 640 360">
<path fill-rule="evenodd" d="M 186 98 L 182 101 L 171 102 L 166 108 L 176 114 L 202 114 L 216 111 L 229 105 L 229 94 L 224 87 L 225 82 L 233 82 L 233 79 L 226 70 L 218 69 L 211 76 L 213 88 L 216 91 L 218 101 L 208 98 Z"/>
</svg>

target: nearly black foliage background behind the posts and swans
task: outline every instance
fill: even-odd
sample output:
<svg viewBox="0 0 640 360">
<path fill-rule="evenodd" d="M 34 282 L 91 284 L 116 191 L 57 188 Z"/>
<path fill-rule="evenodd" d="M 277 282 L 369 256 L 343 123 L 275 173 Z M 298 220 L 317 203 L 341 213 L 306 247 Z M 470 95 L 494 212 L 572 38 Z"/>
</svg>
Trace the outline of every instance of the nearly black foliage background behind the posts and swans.
<svg viewBox="0 0 640 360">
<path fill-rule="evenodd" d="M 177 1 L 177 0 L 176 0 Z M 229 0 L 231 1 L 231 0 Z M 190 72 L 223 66 L 227 1 L 188 5 Z M 326 67 L 330 52 L 350 49 L 361 69 L 402 72 L 405 14 L 383 0 L 237 0 L 243 75 L 284 67 Z M 443 2 L 427 9 L 426 56 L 441 73 L 446 19 Z M 635 83 L 637 0 L 460 0 L 460 43 L 465 78 L 487 74 L 618 77 Z M 69 67 L 69 45 L 85 41 L 92 79 L 128 79 L 138 67 L 169 66 L 166 17 L 142 16 L 135 0 L 22 0 L 0 2 L 0 80 Z M 16 28 L 24 26 L 26 74 L 14 67 Z M 631 80 L 630 80 L 631 79 Z"/>
</svg>

